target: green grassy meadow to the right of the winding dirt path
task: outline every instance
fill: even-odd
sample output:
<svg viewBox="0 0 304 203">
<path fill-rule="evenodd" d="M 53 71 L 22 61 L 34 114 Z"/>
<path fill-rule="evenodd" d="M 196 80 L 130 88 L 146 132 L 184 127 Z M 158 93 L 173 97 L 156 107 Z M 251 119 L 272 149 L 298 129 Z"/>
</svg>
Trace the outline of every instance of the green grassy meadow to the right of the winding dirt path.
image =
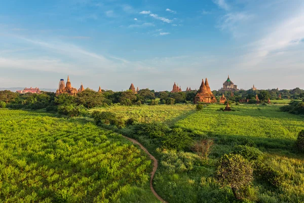
<svg viewBox="0 0 304 203">
<path fill-rule="evenodd" d="M 224 105 L 205 105 L 201 111 L 194 105 L 178 105 L 176 109 L 184 109 L 183 113 L 179 110 L 165 118 L 174 106 L 111 107 L 102 111 L 135 119 L 153 111 L 155 116 L 139 121 L 163 121 L 195 132 L 200 135 L 196 139 L 214 140 L 209 159 L 202 163 L 195 153 L 157 150 L 153 140 L 138 138 L 160 160 L 154 187 L 168 202 L 239 202 L 230 188 L 221 188 L 213 178 L 215 163 L 223 154 L 231 153 L 235 145 L 259 149 L 262 162 L 283 175 L 278 188 L 254 180 L 247 202 L 304 202 L 304 157 L 294 150 L 297 133 L 304 129 L 304 117 L 281 112 L 281 106 L 233 105 L 232 112 L 223 112 Z"/>
</svg>

